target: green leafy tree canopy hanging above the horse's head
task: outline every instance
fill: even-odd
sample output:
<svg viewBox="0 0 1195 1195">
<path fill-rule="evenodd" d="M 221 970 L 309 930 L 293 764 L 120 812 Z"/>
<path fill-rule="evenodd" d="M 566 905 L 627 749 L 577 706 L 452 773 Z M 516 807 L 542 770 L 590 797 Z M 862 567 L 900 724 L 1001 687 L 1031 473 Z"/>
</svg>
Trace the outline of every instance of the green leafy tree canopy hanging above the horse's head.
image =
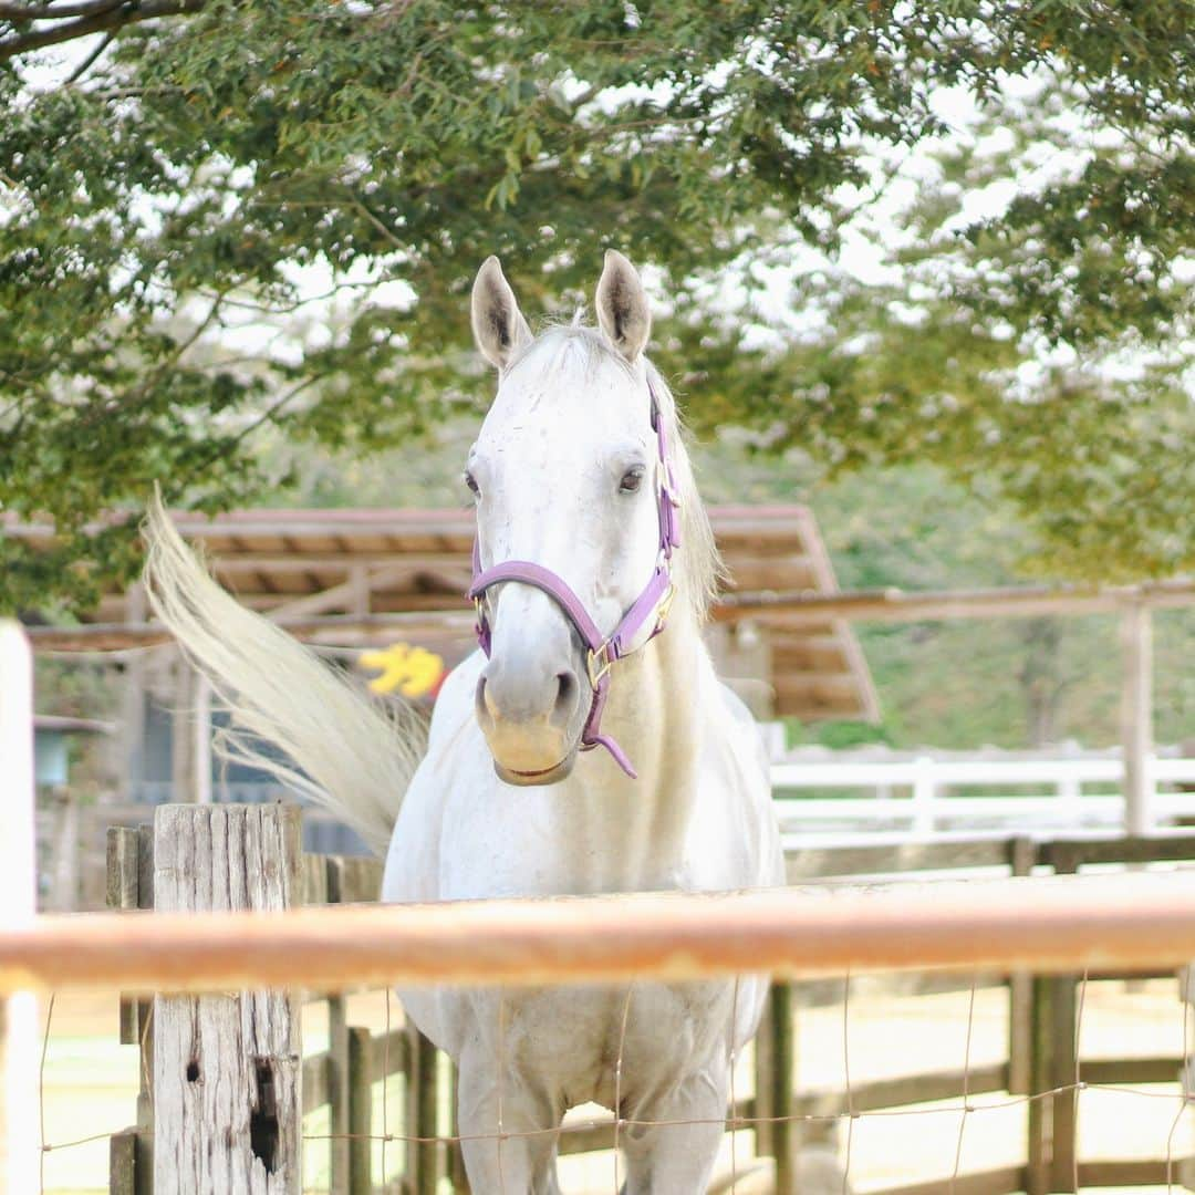
<svg viewBox="0 0 1195 1195">
<path fill-rule="evenodd" d="M 566 310 L 606 244 L 654 268 L 698 428 L 934 461 L 1055 574 L 1188 568 L 1190 27 L 1179 0 L 6 0 L 0 504 L 59 540 L 0 540 L 0 606 L 128 574 L 131 521 L 87 523 L 154 479 L 259 495 L 259 428 L 428 433 L 489 386 L 482 258 Z M 931 159 L 885 251 L 876 213 Z M 1011 202 L 969 214 L 995 180 Z M 838 264 L 868 238 L 880 281 Z M 802 318 L 761 337 L 777 277 Z"/>
</svg>

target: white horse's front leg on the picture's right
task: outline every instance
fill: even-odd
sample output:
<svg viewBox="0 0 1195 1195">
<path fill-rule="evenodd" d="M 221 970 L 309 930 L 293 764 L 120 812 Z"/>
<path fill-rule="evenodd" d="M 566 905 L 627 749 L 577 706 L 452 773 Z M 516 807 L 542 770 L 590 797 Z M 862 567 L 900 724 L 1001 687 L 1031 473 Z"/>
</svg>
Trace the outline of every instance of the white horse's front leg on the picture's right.
<svg viewBox="0 0 1195 1195">
<path fill-rule="evenodd" d="M 725 1130 L 727 1083 L 725 1068 L 711 1066 L 636 1103 L 629 1119 L 672 1123 L 623 1132 L 624 1195 L 705 1195 Z"/>
</svg>

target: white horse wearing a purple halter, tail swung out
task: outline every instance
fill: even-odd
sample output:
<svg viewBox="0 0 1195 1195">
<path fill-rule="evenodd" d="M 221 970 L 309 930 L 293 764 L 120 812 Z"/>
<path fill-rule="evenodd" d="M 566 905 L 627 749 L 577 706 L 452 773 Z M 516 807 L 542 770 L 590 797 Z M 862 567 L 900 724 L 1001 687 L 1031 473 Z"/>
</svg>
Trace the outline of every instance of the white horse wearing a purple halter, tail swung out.
<svg viewBox="0 0 1195 1195">
<path fill-rule="evenodd" d="M 151 513 L 157 612 L 240 724 L 294 765 L 266 766 L 388 841 L 386 901 L 783 883 L 759 735 L 701 641 L 710 526 L 620 253 L 596 306 L 599 329 L 534 338 L 497 259 L 477 276 L 473 330 L 498 369 L 466 471 L 488 654 L 451 674 L 425 744 L 410 715 L 387 721 L 238 606 Z M 460 1068 L 478 1195 L 558 1191 L 556 1130 L 588 1101 L 624 1119 L 625 1191 L 705 1191 L 765 995 L 759 976 L 402 993 Z"/>
</svg>

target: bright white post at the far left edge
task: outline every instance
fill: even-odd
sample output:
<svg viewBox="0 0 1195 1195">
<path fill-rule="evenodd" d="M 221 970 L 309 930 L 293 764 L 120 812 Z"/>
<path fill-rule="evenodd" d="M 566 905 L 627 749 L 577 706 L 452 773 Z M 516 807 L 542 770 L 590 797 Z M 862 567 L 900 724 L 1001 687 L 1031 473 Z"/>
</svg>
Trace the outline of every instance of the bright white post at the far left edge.
<svg viewBox="0 0 1195 1195">
<path fill-rule="evenodd" d="M 0 620 L 0 908 L 5 924 L 33 920 L 33 662 L 18 623 Z M 0 999 L 0 1190 L 37 1183 L 37 1003 Z"/>
</svg>

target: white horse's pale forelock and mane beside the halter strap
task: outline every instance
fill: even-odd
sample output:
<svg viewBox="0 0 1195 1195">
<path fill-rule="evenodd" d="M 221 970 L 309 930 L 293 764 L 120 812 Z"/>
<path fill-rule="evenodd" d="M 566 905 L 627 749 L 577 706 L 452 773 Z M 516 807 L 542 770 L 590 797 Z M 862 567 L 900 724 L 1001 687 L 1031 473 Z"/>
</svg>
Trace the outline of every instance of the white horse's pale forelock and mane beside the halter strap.
<svg viewBox="0 0 1195 1195">
<path fill-rule="evenodd" d="M 638 374 L 632 364 L 606 339 L 601 329 L 582 324 L 580 313 L 570 323 L 546 321 L 544 330 L 510 361 L 508 370 L 538 349 L 554 347 L 557 351 L 578 351 L 586 363 L 596 369 L 600 363 L 613 362 L 629 378 Z M 709 618 L 710 606 L 718 595 L 725 577 L 722 557 L 713 539 L 713 528 L 705 513 L 697 489 L 693 464 L 690 460 L 688 431 L 676 409 L 676 399 L 663 375 L 644 358 L 648 378 L 655 388 L 664 418 L 664 431 L 672 454 L 673 477 L 680 491 L 680 547 L 676 551 L 676 598 L 693 612 L 698 624 Z"/>
</svg>

